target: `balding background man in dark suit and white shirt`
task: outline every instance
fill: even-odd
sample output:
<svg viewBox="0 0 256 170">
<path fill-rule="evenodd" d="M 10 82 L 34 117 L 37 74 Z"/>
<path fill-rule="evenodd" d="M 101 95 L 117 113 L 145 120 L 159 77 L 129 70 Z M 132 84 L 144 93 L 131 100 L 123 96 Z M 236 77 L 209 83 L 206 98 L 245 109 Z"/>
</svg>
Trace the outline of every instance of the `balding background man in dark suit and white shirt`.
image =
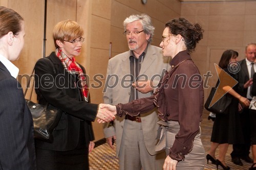
<svg viewBox="0 0 256 170">
<path fill-rule="evenodd" d="M 238 83 L 239 83 L 239 93 L 245 98 L 251 100 L 251 85 L 252 76 L 256 71 L 256 65 L 254 64 L 255 55 L 254 51 L 256 48 L 255 43 L 249 43 L 245 48 L 245 59 L 239 61 L 240 71 L 238 72 Z M 250 116 L 249 109 L 244 108 L 243 112 L 240 114 L 241 128 L 243 131 L 243 144 L 233 144 L 233 151 L 230 154 L 232 157 L 232 162 L 237 165 L 243 165 L 241 159 L 246 162 L 252 163 L 252 159 L 249 157 L 250 151 Z"/>
</svg>

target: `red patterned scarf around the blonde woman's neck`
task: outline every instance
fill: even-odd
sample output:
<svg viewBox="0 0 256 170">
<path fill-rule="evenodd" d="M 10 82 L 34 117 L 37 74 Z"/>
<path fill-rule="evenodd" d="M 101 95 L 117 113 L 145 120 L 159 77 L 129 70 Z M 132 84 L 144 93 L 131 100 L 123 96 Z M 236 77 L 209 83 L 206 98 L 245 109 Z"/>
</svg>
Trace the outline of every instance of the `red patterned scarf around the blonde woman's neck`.
<svg viewBox="0 0 256 170">
<path fill-rule="evenodd" d="M 66 54 L 64 54 L 59 48 L 56 48 L 56 56 L 60 59 L 64 69 L 69 72 L 69 74 L 78 74 L 78 82 L 80 82 L 80 89 L 85 101 L 89 101 L 89 89 L 86 82 L 86 75 L 83 73 L 81 67 L 76 62 L 75 57 L 70 59 Z"/>
</svg>

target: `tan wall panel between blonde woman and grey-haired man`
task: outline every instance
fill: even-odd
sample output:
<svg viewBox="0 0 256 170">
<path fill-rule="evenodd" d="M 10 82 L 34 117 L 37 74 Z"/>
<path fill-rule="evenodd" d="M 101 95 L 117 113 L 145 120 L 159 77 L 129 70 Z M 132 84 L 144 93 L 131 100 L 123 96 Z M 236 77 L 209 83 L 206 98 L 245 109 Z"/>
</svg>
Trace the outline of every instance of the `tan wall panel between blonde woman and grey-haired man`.
<svg viewBox="0 0 256 170">
<path fill-rule="evenodd" d="M 111 22 L 111 0 L 92 0 L 91 6 L 91 22 L 90 29 L 90 59 L 87 59 L 90 76 L 90 93 L 92 103 L 102 103 L 102 91 L 104 85 L 104 78 L 98 77 L 96 79 L 102 82 L 98 84 L 93 78 L 99 74 L 105 77 L 106 68 L 109 61 L 109 43 L 110 43 L 110 22 Z M 96 86 L 95 88 L 93 86 Z M 99 86 L 99 87 L 97 87 Z M 95 140 L 104 138 L 102 125 L 97 121 L 93 123 Z"/>
</svg>

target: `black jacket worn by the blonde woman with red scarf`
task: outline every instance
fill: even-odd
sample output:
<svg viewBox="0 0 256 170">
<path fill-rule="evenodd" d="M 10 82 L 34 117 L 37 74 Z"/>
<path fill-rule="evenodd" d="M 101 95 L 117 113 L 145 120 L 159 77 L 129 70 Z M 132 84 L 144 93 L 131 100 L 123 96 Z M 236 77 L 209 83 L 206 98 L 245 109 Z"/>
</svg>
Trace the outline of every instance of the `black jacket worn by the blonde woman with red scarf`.
<svg viewBox="0 0 256 170">
<path fill-rule="evenodd" d="M 35 140 L 35 146 L 52 151 L 73 150 L 81 136 L 80 130 L 85 133 L 88 146 L 89 142 L 94 140 L 91 122 L 96 118 L 98 105 L 82 101 L 80 89 L 74 83 L 77 82 L 77 77 L 64 70 L 54 52 L 47 58 L 54 64 L 56 72 L 54 73 L 49 60 L 39 59 L 36 62 L 35 85 L 38 100 L 40 104 L 52 104 L 63 113 L 54 130 L 53 143 Z M 81 65 L 80 67 L 85 72 Z M 80 124 L 84 127 L 80 128 Z"/>
</svg>

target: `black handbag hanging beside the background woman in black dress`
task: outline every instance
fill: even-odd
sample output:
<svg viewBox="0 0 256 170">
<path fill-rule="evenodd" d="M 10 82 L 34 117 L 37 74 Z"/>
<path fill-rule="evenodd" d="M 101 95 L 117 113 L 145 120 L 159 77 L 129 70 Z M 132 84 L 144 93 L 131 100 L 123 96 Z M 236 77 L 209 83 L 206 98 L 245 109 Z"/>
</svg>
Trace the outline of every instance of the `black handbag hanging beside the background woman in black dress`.
<svg viewBox="0 0 256 170">
<path fill-rule="evenodd" d="M 223 114 L 225 113 L 227 107 L 231 104 L 232 97 L 226 93 L 216 103 L 214 103 L 214 105 L 212 105 L 211 101 L 214 98 L 215 93 L 216 95 L 218 95 L 219 91 L 217 90 L 217 87 L 212 87 L 210 90 L 210 94 L 204 104 L 204 108 L 216 114 Z M 212 106 L 210 106 L 210 104 Z"/>
</svg>

